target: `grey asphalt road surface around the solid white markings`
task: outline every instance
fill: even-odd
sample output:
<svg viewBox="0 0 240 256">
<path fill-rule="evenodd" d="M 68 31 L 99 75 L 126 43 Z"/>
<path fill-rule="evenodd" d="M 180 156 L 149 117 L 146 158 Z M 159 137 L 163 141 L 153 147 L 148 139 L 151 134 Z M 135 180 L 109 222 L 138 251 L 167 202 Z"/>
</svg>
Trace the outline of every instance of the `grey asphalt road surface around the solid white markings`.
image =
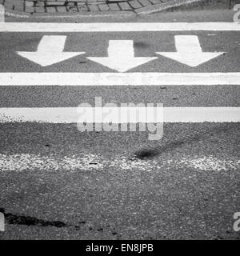
<svg viewBox="0 0 240 256">
<path fill-rule="evenodd" d="M 205 10 L 57 22 L 232 22 L 232 18 L 232 11 Z M 85 54 L 50 66 L 16 54 L 36 51 L 46 35 L 65 35 L 64 51 Z M 156 54 L 174 52 L 176 35 L 198 36 L 203 52 L 224 54 L 196 67 Z M 110 40 L 132 40 L 136 57 L 158 58 L 126 74 L 237 73 L 239 35 L 240 31 L 199 30 L 0 32 L 0 72 L 114 75 L 116 70 L 86 57 L 106 57 Z M 240 98 L 239 81 L 211 86 L 28 84 L 0 86 L 0 91 L 0 108 L 16 111 L 77 107 L 82 102 L 93 104 L 94 97 L 116 104 L 209 108 L 239 107 Z M 163 138 L 156 141 L 140 131 L 82 133 L 75 123 L 1 122 L 0 138 L 0 208 L 6 218 L 1 239 L 240 238 L 233 228 L 234 213 L 240 211 L 239 122 L 166 122 Z"/>
</svg>

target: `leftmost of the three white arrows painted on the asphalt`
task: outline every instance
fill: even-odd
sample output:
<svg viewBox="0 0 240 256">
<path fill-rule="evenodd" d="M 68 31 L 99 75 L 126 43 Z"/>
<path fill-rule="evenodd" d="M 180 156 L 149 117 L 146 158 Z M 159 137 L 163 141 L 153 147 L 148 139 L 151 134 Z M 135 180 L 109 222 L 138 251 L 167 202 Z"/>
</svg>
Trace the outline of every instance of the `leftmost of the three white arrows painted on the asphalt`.
<svg viewBox="0 0 240 256">
<path fill-rule="evenodd" d="M 63 52 L 65 42 L 65 35 L 45 35 L 39 42 L 37 51 L 18 51 L 17 53 L 41 66 L 50 66 L 79 54 L 85 54 L 85 52 Z"/>
</svg>

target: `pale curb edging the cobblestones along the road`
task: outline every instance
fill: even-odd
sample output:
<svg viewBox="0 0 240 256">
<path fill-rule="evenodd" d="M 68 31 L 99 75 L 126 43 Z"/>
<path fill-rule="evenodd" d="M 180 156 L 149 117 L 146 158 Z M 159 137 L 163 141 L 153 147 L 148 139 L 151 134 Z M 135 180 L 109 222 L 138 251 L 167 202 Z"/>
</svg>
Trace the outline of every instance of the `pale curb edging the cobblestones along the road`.
<svg viewBox="0 0 240 256">
<path fill-rule="evenodd" d="M 204 6 L 214 5 L 216 9 L 218 4 L 225 5 L 227 9 L 230 9 L 231 6 L 234 6 L 234 3 L 240 3 L 240 0 L 170 0 L 169 2 L 162 2 L 152 6 L 146 6 L 139 8 L 138 10 L 127 10 L 127 11 L 79 11 L 72 13 L 26 13 L 23 11 L 17 10 L 8 10 L 5 8 L 6 16 L 15 17 L 15 18 L 101 18 L 101 17 L 127 17 L 135 15 L 144 15 L 144 14 L 154 14 L 159 12 L 167 12 L 174 10 L 191 10 L 193 7 L 200 7 L 203 9 Z M 232 4 L 232 5 L 231 5 Z"/>
</svg>

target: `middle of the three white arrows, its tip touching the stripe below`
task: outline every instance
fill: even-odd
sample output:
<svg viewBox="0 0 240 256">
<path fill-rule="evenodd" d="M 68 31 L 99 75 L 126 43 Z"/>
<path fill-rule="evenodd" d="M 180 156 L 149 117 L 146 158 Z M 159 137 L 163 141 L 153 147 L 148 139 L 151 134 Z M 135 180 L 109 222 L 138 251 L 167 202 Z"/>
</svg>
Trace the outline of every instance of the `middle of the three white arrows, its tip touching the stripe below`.
<svg viewBox="0 0 240 256">
<path fill-rule="evenodd" d="M 89 59 L 112 70 L 125 72 L 157 58 L 134 57 L 134 42 L 132 40 L 110 40 L 107 52 L 108 57 L 89 57 Z"/>
</svg>

